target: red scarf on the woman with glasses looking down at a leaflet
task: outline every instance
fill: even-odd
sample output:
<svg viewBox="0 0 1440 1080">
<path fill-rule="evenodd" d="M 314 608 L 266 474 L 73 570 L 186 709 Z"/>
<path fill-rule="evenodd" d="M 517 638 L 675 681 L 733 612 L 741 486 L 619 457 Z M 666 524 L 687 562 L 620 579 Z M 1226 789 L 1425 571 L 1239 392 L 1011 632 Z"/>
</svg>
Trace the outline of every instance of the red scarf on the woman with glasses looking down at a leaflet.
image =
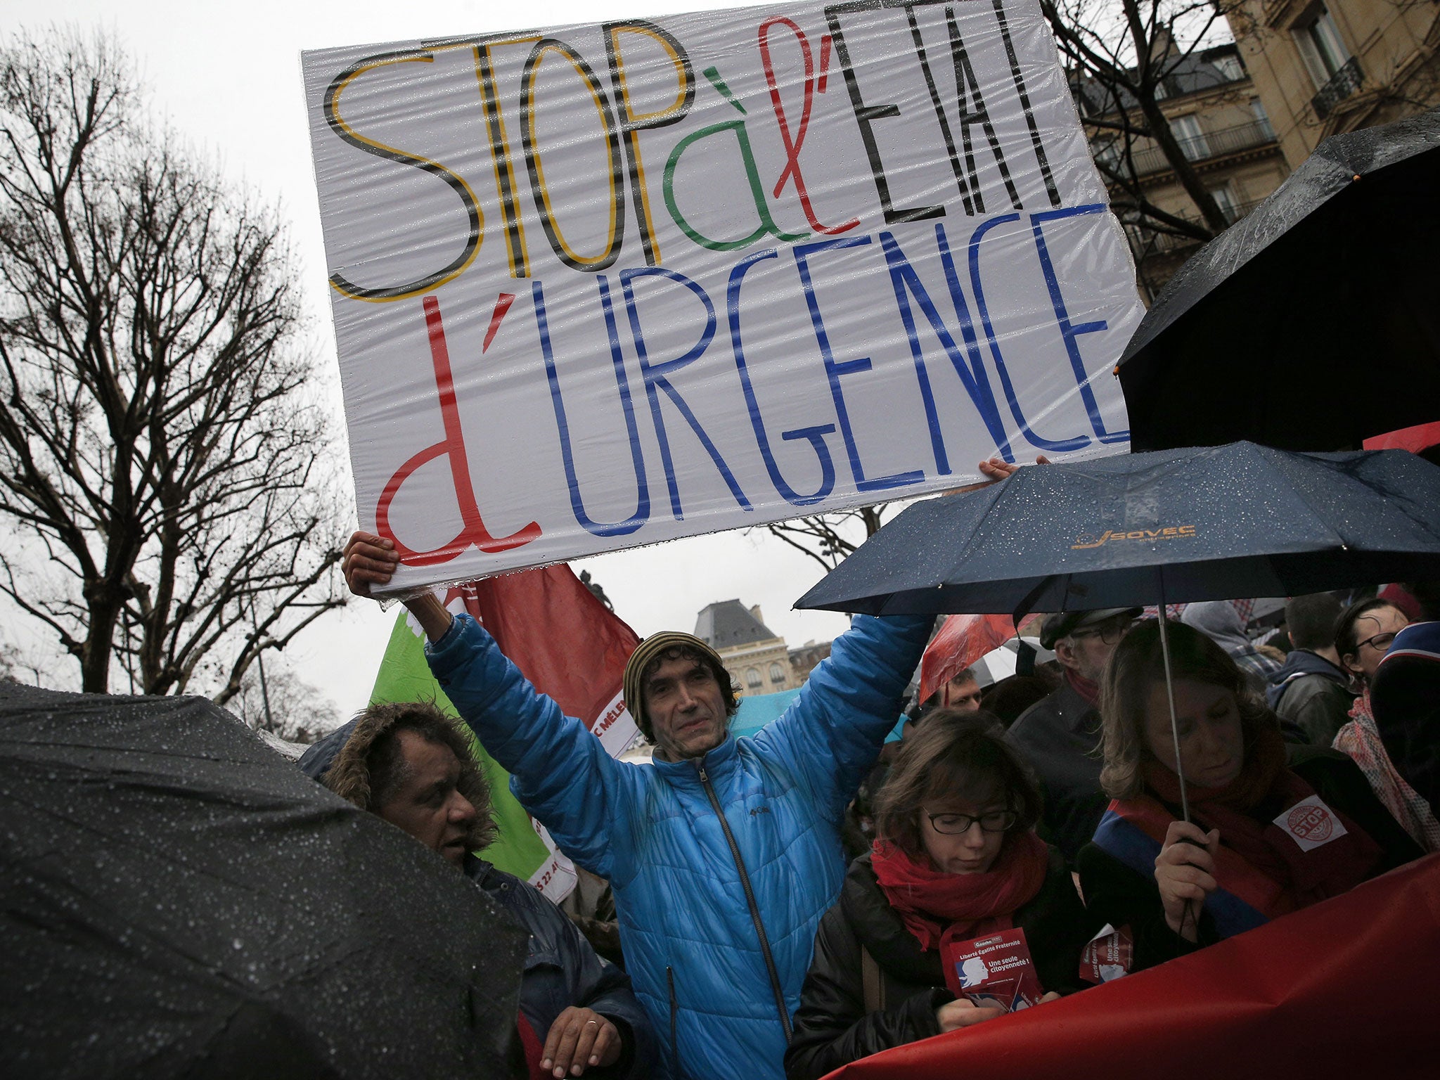
<svg viewBox="0 0 1440 1080">
<path fill-rule="evenodd" d="M 948 874 L 926 855 L 912 858 L 877 840 L 870 865 L 906 929 L 930 950 L 1008 930 L 1015 910 L 1034 900 L 1045 883 L 1050 851 L 1034 832 L 1011 834 L 984 874 Z"/>
</svg>

